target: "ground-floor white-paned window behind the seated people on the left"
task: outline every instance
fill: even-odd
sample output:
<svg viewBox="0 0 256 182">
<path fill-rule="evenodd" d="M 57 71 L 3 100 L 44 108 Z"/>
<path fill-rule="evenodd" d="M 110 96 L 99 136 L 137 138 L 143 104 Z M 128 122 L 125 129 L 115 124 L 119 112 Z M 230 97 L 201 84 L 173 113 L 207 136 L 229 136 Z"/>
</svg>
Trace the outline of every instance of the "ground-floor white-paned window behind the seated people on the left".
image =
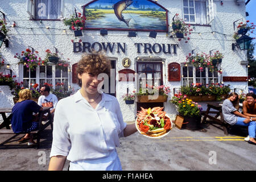
<svg viewBox="0 0 256 182">
<path fill-rule="evenodd" d="M 56 89 L 61 83 L 64 84 L 64 90 L 68 90 L 69 88 L 69 67 L 60 69 L 55 65 L 44 65 L 36 68 L 36 70 L 22 67 L 24 88 L 31 88 L 34 84 L 39 84 L 40 88 L 46 82 L 53 85 L 53 89 Z"/>
</svg>

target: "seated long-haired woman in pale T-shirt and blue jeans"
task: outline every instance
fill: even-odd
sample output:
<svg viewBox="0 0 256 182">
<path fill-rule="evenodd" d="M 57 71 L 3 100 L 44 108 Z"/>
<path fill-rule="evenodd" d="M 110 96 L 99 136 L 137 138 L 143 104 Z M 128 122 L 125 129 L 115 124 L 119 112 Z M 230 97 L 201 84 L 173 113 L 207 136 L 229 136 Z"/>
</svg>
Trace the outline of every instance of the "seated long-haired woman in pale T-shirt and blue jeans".
<svg viewBox="0 0 256 182">
<path fill-rule="evenodd" d="M 248 133 L 250 136 L 249 143 L 256 144 L 255 129 L 256 123 L 253 118 L 252 120 L 249 116 L 246 116 L 238 111 L 239 109 L 239 98 L 237 93 L 230 93 L 228 98 L 223 102 L 222 114 L 224 120 L 230 125 L 248 126 Z"/>
</svg>

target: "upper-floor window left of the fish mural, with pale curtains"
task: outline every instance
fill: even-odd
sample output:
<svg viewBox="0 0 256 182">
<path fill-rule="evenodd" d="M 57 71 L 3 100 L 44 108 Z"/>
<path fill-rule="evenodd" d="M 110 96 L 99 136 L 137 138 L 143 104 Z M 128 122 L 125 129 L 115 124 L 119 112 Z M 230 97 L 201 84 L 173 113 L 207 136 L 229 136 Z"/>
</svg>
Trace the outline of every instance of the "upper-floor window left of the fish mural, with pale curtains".
<svg viewBox="0 0 256 182">
<path fill-rule="evenodd" d="M 60 19 L 64 17 L 64 0 L 27 0 L 31 19 Z"/>
</svg>

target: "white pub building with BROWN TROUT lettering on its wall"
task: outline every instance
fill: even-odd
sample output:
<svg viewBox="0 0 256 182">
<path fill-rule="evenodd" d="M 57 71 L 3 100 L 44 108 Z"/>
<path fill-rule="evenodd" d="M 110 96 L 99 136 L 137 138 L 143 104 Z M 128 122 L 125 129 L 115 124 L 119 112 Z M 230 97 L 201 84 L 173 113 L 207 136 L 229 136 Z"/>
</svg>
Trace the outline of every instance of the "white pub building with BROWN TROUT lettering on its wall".
<svg viewBox="0 0 256 182">
<path fill-rule="evenodd" d="M 232 90 L 247 92 L 246 49 L 233 38 L 240 22 L 246 22 L 246 3 L 242 0 L 17 0 L 2 1 L 0 18 L 9 30 L 0 48 L 0 72 L 16 76 L 25 88 L 47 82 L 55 88 L 79 89 L 76 63 L 83 53 L 105 51 L 112 61 L 109 79 L 110 94 L 121 106 L 124 121 L 134 121 L 140 107 L 163 106 L 175 119 L 176 107 L 170 100 L 181 86 L 220 83 Z M 72 14 L 86 17 L 79 30 L 66 26 L 64 19 Z M 172 22 L 183 19 L 191 31 L 183 38 L 175 34 Z M 75 26 L 76 24 L 73 24 Z M 46 50 L 57 53 L 68 64 L 65 69 L 56 63 L 35 69 L 17 59 L 22 51 L 38 52 L 44 60 Z M 187 64 L 186 57 L 220 52 L 224 56 L 217 65 L 221 72 L 203 71 Z M 18 53 L 18 55 L 16 55 Z M 0 61 L 0 62 L 1 62 Z M 174 73 L 175 71 L 175 73 Z M 127 76 L 127 78 L 123 76 Z M 127 105 L 122 96 L 138 92 L 145 75 L 147 84 L 169 86 L 166 102 L 138 102 Z M 107 90 L 108 91 L 108 90 Z M 13 94 L 7 85 L 0 85 L 0 107 L 13 107 Z"/>
</svg>

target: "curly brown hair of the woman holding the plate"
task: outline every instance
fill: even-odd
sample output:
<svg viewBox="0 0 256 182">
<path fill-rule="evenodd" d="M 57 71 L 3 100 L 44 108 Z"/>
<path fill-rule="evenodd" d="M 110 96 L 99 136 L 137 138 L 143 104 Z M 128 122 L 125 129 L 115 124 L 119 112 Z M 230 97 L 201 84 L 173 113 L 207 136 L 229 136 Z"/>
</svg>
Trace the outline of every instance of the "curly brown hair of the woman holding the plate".
<svg viewBox="0 0 256 182">
<path fill-rule="evenodd" d="M 76 73 L 82 75 L 82 73 L 93 73 L 93 75 L 99 75 L 100 73 L 106 73 L 110 76 L 111 63 L 108 57 L 103 52 L 93 51 L 92 53 L 85 53 L 82 55 L 79 63 L 77 64 Z M 78 79 L 78 84 L 81 86 L 81 82 Z"/>
</svg>

